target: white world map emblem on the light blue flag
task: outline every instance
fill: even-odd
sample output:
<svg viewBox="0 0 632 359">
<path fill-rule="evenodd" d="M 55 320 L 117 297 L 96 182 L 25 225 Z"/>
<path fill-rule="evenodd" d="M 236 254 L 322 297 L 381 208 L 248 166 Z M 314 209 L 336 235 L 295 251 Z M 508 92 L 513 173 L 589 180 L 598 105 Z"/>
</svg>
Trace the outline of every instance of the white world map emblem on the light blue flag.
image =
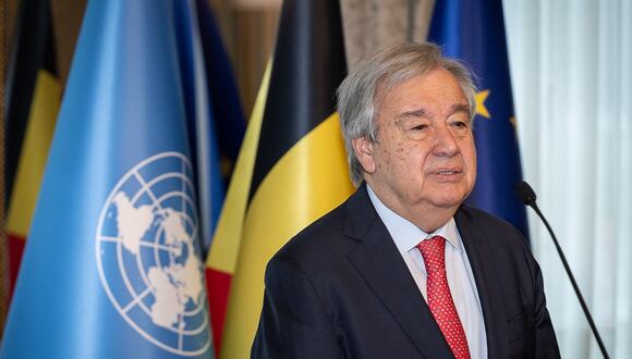
<svg viewBox="0 0 632 359">
<path fill-rule="evenodd" d="M 139 162 L 110 191 L 96 233 L 112 306 L 145 339 L 180 356 L 210 347 L 192 172 L 178 152 Z"/>
</svg>

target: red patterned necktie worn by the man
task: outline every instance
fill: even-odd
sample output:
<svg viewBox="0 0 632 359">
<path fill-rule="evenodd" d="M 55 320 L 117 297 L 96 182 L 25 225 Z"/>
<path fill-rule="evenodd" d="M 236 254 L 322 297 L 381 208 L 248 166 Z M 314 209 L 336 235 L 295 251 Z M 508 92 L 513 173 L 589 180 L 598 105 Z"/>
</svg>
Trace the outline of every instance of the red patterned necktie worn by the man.
<svg viewBox="0 0 632 359">
<path fill-rule="evenodd" d="M 417 245 L 426 263 L 428 307 L 457 359 L 470 358 L 467 338 L 446 276 L 446 239 L 434 236 Z"/>
</svg>

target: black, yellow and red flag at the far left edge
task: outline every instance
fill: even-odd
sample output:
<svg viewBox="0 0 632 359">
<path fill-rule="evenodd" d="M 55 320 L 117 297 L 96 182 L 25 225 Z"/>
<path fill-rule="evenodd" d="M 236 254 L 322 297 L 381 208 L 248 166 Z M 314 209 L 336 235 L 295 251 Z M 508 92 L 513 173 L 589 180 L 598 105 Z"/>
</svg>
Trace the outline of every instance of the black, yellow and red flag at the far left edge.
<svg viewBox="0 0 632 359">
<path fill-rule="evenodd" d="M 48 0 L 23 0 L 7 76 L 5 198 L 11 296 L 39 193 L 61 89 Z"/>
</svg>

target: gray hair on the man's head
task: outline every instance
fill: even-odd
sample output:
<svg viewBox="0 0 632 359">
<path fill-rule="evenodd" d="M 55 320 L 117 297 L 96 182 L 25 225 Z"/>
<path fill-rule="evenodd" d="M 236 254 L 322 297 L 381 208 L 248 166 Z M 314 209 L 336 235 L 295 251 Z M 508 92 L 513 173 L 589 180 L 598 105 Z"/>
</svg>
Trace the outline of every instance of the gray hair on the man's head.
<svg viewBox="0 0 632 359">
<path fill-rule="evenodd" d="M 338 114 L 342 125 L 344 146 L 349 160 L 351 181 L 358 186 L 364 169 L 353 149 L 352 140 L 366 137 L 378 140 L 377 98 L 380 94 L 418 75 L 442 67 L 450 72 L 467 98 L 470 117 L 476 113 L 476 86 L 472 72 L 455 60 L 443 58 L 441 49 L 434 44 L 403 44 L 382 50 L 362 61 L 338 88 Z"/>
</svg>

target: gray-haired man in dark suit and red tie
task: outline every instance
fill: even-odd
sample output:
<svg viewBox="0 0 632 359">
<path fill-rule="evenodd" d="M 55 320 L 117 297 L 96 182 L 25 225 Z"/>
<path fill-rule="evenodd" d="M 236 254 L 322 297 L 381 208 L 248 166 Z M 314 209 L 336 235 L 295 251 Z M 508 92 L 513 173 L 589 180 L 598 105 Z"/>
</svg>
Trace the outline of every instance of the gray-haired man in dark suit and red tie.
<svg viewBox="0 0 632 359">
<path fill-rule="evenodd" d="M 356 193 L 270 260 L 255 358 L 559 358 L 539 268 L 474 186 L 475 87 L 430 44 L 339 89 Z"/>
</svg>

